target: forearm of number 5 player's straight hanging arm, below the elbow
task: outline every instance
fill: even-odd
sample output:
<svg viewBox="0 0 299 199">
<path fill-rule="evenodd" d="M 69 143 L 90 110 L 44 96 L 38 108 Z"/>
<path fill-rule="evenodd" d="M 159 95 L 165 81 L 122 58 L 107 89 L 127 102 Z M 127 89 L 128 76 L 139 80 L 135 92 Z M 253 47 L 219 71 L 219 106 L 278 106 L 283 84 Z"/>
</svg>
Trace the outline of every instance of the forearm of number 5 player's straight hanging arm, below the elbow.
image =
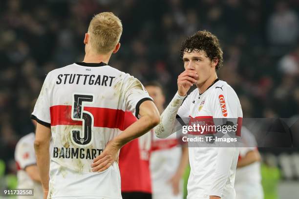
<svg viewBox="0 0 299 199">
<path fill-rule="evenodd" d="M 49 145 L 50 142 L 40 142 L 37 140 L 34 142 L 37 165 L 44 190 L 49 189 Z"/>
</svg>

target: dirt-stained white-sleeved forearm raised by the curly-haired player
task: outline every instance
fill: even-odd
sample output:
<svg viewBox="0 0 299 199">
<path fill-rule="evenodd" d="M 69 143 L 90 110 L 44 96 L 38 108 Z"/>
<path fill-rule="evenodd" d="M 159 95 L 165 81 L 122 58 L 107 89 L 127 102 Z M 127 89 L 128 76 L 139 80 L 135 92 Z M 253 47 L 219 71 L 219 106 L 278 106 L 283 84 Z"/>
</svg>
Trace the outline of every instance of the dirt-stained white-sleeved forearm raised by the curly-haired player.
<svg viewBox="0 0 299 199">
<path fill-rule="evenodd" d="M 161 115 L 160 123 L 154 128 L 158 138 L 167 138 L 175 132 L 175 117 L 186 96 L 175 94 L 170 104 Z"/>
</svg>

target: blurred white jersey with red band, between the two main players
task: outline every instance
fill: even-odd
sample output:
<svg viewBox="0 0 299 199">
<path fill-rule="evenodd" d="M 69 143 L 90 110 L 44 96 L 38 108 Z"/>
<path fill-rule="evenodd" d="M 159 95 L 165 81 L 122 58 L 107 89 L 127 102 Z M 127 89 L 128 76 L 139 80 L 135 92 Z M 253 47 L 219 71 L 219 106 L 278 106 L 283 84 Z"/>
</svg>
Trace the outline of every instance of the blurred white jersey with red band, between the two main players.
<svg viewBox="0 0 299 199">
<path fill-rule="evenodd" d="M 180 193 L 176 196 L 173 195 L 169 182 L 181 161 L 182 148 L 177 145 L 176 134 L 165 139 L 153 136 L 149 161 L 153 199 L 183 199 L 183 181 L 180 184 Z"/>
</svg>

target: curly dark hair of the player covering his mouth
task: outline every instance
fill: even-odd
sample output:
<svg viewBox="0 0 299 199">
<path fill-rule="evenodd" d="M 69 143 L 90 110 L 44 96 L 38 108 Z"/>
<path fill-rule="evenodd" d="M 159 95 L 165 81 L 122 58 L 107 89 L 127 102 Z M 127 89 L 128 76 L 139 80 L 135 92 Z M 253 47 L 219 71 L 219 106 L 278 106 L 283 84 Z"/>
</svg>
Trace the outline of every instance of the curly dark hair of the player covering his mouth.
<svg viewBox="0 0 299 199">
<path fill-rule="evenodd" d="M 184 52 L 205 51 L 208 58 L 214 60 L 218 58 L 218 64 L 215 69 L 218 70 L 223 64 L 223 52 L 219 40 L 209 31 L 198 31 L 193 36 L 188 37 L 181 46 L 180 56 L 183 59 Z"/>
</svg>

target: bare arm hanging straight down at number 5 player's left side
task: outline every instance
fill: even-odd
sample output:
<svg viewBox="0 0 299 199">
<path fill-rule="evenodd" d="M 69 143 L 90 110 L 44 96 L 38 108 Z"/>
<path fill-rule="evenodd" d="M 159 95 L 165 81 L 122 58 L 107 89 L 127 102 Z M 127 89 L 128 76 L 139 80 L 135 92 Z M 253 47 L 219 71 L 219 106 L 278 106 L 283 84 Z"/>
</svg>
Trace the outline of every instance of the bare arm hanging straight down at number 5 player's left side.
<svg viewBox="0 0 299 199">
<path fill-rule="evenodd" d="M 41 176 L 41 182 L 43 185 L 44 195 L 46 199 L 49 191 L 49 166 L 50 166 L 50 140 L 51 140 L 51 129 L 37 124 L 35 133 L 34 149 L 36 154 L 37 165 Z"/>
</svg>

